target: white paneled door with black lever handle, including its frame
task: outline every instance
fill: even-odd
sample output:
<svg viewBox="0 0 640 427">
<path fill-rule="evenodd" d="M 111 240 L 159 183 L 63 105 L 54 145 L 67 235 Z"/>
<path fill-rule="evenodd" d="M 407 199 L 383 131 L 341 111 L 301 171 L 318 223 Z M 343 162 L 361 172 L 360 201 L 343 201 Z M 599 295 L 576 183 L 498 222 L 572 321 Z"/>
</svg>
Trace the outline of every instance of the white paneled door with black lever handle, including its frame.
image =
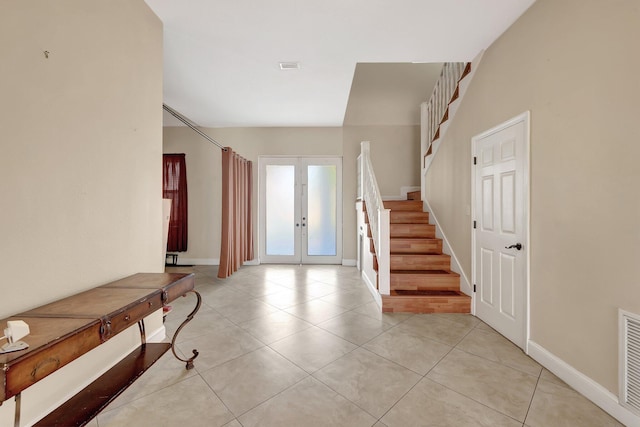
<svg viewBox="0 0 640 427">
<path fill-rule="evenodd" d="M 526 350 L 529 114 L 473 138 L 476 316 Z"/>
</svg>

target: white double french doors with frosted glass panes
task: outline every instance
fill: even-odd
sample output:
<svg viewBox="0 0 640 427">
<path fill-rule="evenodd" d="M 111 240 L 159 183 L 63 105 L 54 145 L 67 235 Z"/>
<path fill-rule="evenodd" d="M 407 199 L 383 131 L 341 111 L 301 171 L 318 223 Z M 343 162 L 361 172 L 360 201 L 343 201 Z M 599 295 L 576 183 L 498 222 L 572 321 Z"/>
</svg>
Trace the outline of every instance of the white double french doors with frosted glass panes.
<svg viewBox="0 0 640 427">
<path fill-rule="evenodd" d="M 342 263 L 342 159 L 260 157 L 260 262 Z"/>
</svg>

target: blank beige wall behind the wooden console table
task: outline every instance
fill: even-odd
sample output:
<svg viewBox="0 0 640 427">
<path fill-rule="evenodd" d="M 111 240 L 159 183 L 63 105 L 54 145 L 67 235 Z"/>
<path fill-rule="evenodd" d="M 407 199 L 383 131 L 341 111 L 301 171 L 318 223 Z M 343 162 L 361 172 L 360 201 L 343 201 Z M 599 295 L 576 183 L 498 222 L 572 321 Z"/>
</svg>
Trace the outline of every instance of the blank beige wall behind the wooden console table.
<svg viewBox="0 0 640 427">
<path fill-rule="evenodd" d="M 161 271 L 161 22 L 142 0 L 2 2 L 0 58 L 0 318 Z"/>
</svg>

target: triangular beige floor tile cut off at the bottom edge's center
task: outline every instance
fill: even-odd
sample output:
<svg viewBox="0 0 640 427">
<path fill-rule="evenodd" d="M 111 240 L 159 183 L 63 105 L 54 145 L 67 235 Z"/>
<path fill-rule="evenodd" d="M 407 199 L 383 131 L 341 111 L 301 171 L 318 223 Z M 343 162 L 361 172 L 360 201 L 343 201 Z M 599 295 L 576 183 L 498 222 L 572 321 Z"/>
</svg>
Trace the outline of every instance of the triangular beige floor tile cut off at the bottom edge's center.
<svg viewBox="0 0 640 427">
<path fill-rule="evenodd" d="M 244 427 L 369 427 L 376 419 L 314 378 L 238 418 Z"/>
</svg>

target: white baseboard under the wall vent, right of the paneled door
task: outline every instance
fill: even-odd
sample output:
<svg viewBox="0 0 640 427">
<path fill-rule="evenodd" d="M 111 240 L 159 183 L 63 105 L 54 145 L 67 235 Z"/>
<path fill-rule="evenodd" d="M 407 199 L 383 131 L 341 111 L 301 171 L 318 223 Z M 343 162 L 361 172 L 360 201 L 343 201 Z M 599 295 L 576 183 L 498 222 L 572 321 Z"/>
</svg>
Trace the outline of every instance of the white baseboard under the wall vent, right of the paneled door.
<svg viewBox="0 0 640 427">
<path fill-rule="evenodd" d="M 640 416 L 620 405 L 616 395 L 531 340 L 529 356 L 622 424 L 640 426 Z"/>
</svg>

